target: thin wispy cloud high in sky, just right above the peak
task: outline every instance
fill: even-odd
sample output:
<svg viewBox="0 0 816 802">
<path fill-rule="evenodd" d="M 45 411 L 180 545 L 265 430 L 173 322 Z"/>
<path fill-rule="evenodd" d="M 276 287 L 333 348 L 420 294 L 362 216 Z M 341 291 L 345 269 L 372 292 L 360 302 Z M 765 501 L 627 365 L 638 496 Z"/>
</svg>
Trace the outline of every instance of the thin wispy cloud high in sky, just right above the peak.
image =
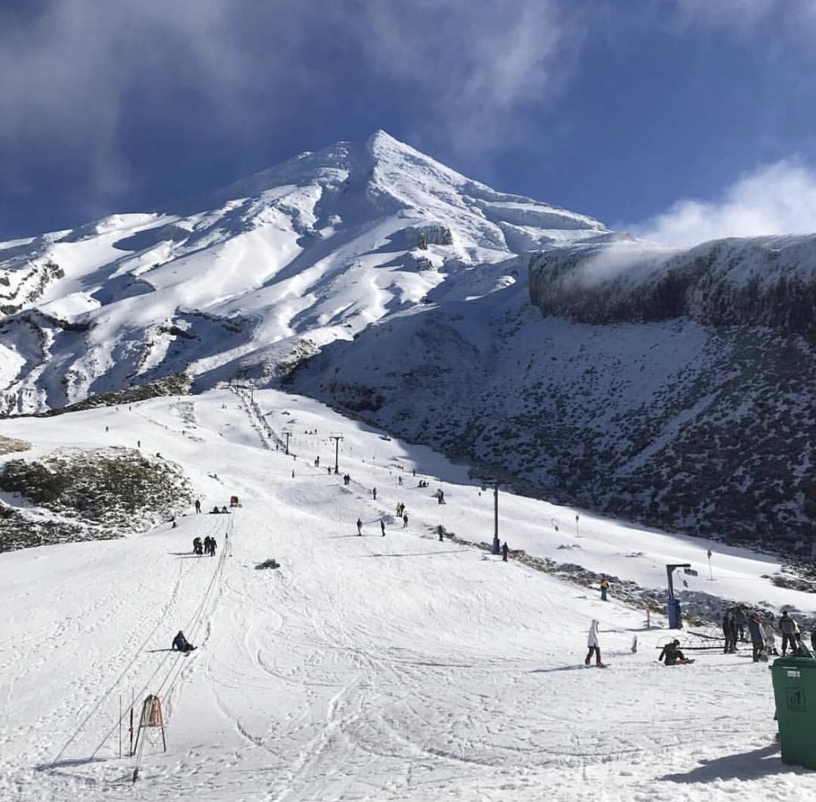
<svg viewBox="0 0 816 802">
<path fill-rule="evenodd" d="M 580 50 L 574 4 L 561 0 L 370 0 L 370 60 L 419 92 L 428 126 L 460 149 L 506 142 L 518 112 L 557 100 Z"/>
</svg>

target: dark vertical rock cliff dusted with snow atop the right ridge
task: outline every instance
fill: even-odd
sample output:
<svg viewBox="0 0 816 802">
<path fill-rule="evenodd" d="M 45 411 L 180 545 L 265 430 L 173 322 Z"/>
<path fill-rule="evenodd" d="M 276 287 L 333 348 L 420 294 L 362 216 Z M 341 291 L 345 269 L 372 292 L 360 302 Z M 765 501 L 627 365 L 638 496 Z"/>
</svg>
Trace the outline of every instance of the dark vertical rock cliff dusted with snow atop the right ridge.
<svg viewBox="0 0 816 802">
<path fill-rule="evenodd" d="M 587 323 L 767 326 L 816 341 L 816 235 L 706 242 L 680 253 L 636 243 L 530 259 L 530 300 Z"/>
</svg>

